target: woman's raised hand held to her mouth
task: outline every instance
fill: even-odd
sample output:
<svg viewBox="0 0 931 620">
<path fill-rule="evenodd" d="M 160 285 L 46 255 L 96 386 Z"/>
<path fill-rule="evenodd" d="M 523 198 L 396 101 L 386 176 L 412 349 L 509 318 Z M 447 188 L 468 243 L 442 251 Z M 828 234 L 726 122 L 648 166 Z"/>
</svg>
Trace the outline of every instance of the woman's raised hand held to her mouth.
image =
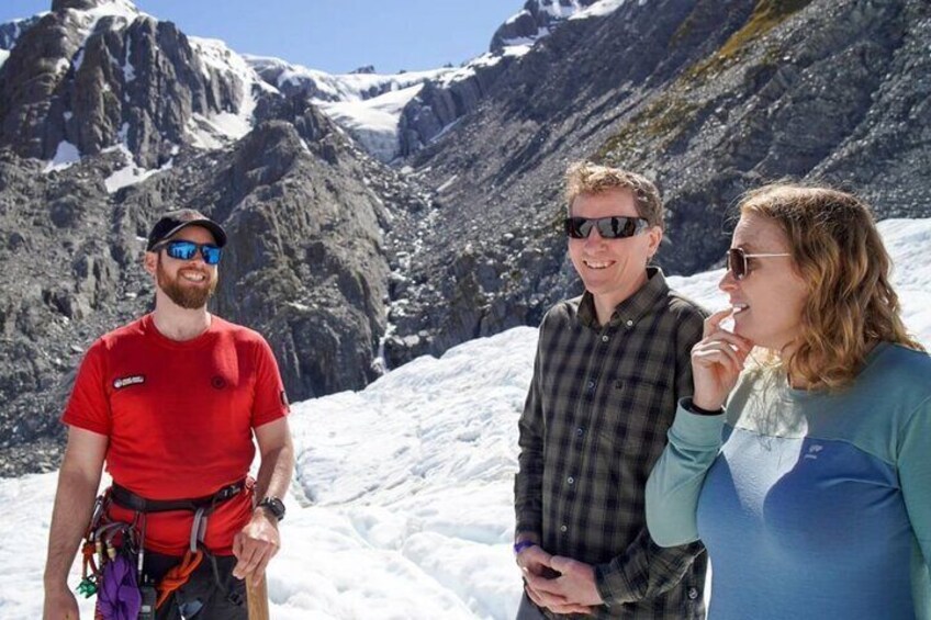
<svg viewBox="0 0 931 620">
<path fill-rule="evenodd" d="M 692 347 L 692 402 L 709 412 L 724 406 L 753 348 L 747 338 L 721 329 L 721 322 L 732 313 L 733 308 L 727 308 L 706 318 L 703 338 Z"/>
</svg>

